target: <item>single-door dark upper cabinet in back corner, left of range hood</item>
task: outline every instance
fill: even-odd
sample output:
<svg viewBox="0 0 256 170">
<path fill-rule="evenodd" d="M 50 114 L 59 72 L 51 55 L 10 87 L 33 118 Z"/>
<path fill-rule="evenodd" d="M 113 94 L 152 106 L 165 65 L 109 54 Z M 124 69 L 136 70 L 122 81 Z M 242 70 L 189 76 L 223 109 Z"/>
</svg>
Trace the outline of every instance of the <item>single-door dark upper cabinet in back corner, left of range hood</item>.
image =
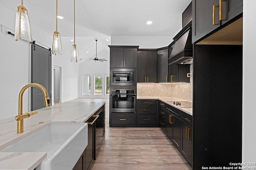
<svg viewBox="0 0 256 170">
<path fill-rule="evenodd" d="M 157 51 L 157 83 L 168 82 L 168 52 L 168 47 Z"/>
</svg>

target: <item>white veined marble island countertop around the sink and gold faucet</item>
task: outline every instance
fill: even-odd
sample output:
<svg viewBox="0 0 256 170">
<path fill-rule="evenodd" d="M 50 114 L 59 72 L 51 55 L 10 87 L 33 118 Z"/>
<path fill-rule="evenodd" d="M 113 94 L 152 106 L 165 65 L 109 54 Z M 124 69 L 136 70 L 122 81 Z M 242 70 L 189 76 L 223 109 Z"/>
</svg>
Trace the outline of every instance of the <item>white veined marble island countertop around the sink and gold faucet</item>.
<svg viewBox="0 0 256 170">
<path fill-rule="evenodd" d="M 64 102 L 38 109 L 36 110 L 38 114 L 24 119 L 23 133 L 16 132 L 17 121 L 14 117 L 2 119 L 0 120 L 0 150 L 46 127 L 50 122 L 70 121 L 72 123 L 84 123 L 104 104 L 105 102 Z M 40 124 L 39 122 L 44 123 Z M 35 162 L 39 162 L 40 164 L 46 158 L 46 155 L 44 157 L 44 153 L 46 152 L 24 152 L 24 154 L 21 152 L 12 152 L 9 156 L 8 153 L 10 154 L 10 152 L 0 152 L 0 169 L 6 169 L 3 165 L 5 161 L 16 162 L 16 159 L 26 160 L 24 165 L 28 166 L 26 168 L 20 167 L 18 163 L 15 163 L 10 168 L 15 169 L 14 166 L 16 165 L 16 169 L 30 169 L 30 164 Z M 5 159 L 6 156 L 8 160 Z M 26 158 L 22 156 L 26 156 Z M 33 157 L 33 160 L 29 159 L 30 156 Z"/>
</svg>

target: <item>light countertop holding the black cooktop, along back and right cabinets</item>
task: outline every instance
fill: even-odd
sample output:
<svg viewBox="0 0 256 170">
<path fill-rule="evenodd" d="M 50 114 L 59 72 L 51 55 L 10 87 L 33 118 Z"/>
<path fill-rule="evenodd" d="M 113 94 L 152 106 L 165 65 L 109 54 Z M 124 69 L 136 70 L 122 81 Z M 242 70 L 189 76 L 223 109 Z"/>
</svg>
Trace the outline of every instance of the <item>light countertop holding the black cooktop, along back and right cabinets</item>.
<svg viewBox="0 0 256 170">
<path fill-rule="evenodd" d="M 172 103 L 169 103 L 168 101 L 186 101 L 186 100 L 183 100 L 183 99 L 180 99 L 180 98 L 177 98 L 177 97 L 161 97 L 161 96 L 137 96 L 137 99 L 158 99 L 160 101 L 163 101 L 165 103 L 168 103 L 169 105 L 177 108 L 177 109 L 180 109 L 181 111 L 184 111 L 185 113 L 188 113 L 189 115 L 193 115 L 192 114 L 192 108 L 181 108 L 181 107 L 178 107 Z"/>
</svg>

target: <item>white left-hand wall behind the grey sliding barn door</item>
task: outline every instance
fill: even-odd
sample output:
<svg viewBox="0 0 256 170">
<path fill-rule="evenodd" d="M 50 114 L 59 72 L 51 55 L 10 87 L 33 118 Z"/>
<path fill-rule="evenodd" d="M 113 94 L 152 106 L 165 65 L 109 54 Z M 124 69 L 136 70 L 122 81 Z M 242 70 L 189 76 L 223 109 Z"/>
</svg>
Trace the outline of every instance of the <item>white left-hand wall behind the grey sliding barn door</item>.
<svg viewBox="0 0 256 170">
<path fill-rule="evenodd" d="M 6 17 L 8 16 L 8 17 Z M 18 115 L 20 89 L 30 83 L 30 45 L 14 41 L 14 37 L 2 32 L 14 33 L 16 13 L 0 4 L 0 119 Z M 30 23 L 32 39 L 44 47 L 51 47 L 52 35 L 48 35 Z M 53 31 L 55 26 L 53 26 Z M 68 42 L 69 41 L 69 42 Z M 62 67 L 62 102 L 78 98 L 79 65 L 70 62 L 70 39 L 63 44 L 62 57 L 52 55 L 52 65 Z M 52 67 L 52 82 L 53 67 Z M 54 89 L 52 83 L 52 89 Z M 30 111 L 30 89 L 24 93 L 23 112 Z M 53 91 L 52 91 L 53 92 Z M 52 93 L 53 94 L 53 93 Z M 52 96 L 54 97 L 54 96 Z"/>
</svg>

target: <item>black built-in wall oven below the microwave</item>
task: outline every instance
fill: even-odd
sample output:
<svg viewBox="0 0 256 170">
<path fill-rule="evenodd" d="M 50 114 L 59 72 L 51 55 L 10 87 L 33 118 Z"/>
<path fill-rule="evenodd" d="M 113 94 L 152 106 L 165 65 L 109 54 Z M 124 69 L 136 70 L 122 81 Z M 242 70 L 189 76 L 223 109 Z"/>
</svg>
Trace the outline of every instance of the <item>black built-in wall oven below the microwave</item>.
<svg viewBox="0 0 256 170">
<path fill-rule="evenodd" d="M 110 92 L 110 112 L 135 113 L 136 94 L 132 89 L 112 89 Z"/>
</svg>

